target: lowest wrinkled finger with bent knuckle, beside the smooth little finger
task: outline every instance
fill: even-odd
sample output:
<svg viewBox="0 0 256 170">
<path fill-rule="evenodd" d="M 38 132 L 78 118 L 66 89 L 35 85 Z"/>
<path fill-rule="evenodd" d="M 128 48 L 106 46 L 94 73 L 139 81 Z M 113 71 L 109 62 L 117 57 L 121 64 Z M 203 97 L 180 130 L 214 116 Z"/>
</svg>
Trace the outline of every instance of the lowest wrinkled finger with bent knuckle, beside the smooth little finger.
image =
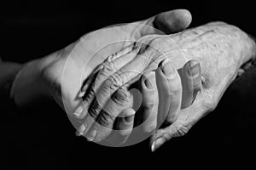
<svg viewBox="0 0 256 170">
<path fill-rule="evenodd" d="M 100 142 L 106 139 L 113 129 L 113 122 L 120 112 L 129 106 L 130 95 L 125 87 L 119 88 L 110 99 L 108 105 L 101 111 L 100 116 L 93 123 L 91 118 L 95 119 L 95 111 L 90 111 L 90 116 L 86 116 L 85 123 L 86 129 L 84 136 L 90 141 Z"/>
</svg>

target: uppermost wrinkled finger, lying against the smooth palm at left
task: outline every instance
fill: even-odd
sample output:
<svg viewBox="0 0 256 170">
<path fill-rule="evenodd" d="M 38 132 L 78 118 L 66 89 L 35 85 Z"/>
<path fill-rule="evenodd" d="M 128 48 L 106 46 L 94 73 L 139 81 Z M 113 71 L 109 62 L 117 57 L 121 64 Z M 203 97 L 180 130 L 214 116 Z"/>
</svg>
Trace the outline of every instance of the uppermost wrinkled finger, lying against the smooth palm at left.
<svg viewBox="0 0 256 170">
<path fill-rule="evenodd" d="M 109 56 L 108 59 L 104 61 L 98 69 L 99 73 L 96 75 L 95 81 L 92 82 L 92 80 L 90 80 L 92 83 L 90 89 L 88 89 L 88 85 L 85 85 L 84 88 L 82 88 L 79 95 L 84 95 L 86 90 L 88 90 L 88 93 L 84 95 L 84 101 L 74 111 L 74 116 L 79 119 L 84 119 L 84 116 L 88 113 L 88 108 L 93 102 L 93 99 L 95 99 L 96 92 L 101 87 L 102 82 L 104 82 L 115 71 L 118 71 L 126 63 L 129 63 L 131 59 L 136 56 L 136 48 L 135 44 L 131 44 L 127 48 L 119 51 L 117 54 Z"/>
</svg>

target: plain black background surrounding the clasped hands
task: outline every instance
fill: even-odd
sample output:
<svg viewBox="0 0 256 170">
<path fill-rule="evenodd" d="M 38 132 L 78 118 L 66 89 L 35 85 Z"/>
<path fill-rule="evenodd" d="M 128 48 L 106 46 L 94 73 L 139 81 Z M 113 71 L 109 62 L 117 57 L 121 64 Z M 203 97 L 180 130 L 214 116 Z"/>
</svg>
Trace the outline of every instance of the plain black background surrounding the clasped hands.
<svg viewBox="0 0 256 170">
<path fill-rule="evenodd" d="M 191 26 L 221 20 L 256 37 L 255 5 L 245 1 L 1 1 L 0 55 L 3 60 L 24 63 L 55 52 L 89 31 L 144 20 L 174 8 L 189 9 L 193 15 Z M 255 70 L 232 84 L 217 109 L 197 122 L 188 134 L 170 140 L 154 153 L 150 152 L 148 141 L 108 148 L 75 137 L 66 114 L 54 103 L 42 102 L 30 111 L 14 111 L 3 103 L 0 166 L 84 169 L 253 166 L 256 81 L 255 76 L 254 80 L 246 77 Z"/>
</svg>

